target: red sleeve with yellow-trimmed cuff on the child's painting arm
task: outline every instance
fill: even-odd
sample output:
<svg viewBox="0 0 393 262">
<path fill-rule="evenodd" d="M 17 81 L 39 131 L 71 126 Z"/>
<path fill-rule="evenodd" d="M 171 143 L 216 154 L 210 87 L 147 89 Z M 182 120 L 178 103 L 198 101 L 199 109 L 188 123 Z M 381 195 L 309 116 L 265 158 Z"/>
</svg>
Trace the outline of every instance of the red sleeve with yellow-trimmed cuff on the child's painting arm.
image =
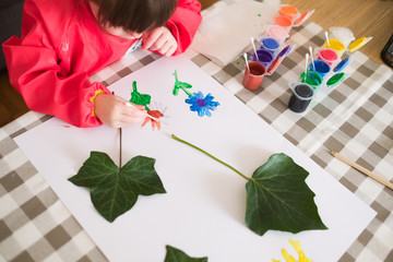
<svg viewBox="0 0 393 262">
<path fill-rule="evenodd" d="M 76 127 L 102 124 L 94 115 L 94 98 L 110 92 L 100 83 L 91 83 L 85 72 L 62 69 L 39 19 L 32 14 L 25 5 L 23 19 L 28 23 L 22 26 L 22 38 L 14 36 L 3 44 L 11 85 L 32 110 Z"/>
</svg>

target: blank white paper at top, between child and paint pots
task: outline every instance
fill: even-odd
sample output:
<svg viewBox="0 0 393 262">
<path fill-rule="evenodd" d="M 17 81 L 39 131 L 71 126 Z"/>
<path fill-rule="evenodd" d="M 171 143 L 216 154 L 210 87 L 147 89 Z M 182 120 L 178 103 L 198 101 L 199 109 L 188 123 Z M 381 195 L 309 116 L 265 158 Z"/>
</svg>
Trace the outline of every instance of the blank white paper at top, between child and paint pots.
<svg viewBox="0 0 393 262">
<path fill-rule="evenodd" d="M 265 25 L 274 24 L 278 9 L 275 1 L 217 2 L 202 12 L 191 48 L 225 66 L 251 46 L 251 36 L 258 39 Z"/>
</svg>

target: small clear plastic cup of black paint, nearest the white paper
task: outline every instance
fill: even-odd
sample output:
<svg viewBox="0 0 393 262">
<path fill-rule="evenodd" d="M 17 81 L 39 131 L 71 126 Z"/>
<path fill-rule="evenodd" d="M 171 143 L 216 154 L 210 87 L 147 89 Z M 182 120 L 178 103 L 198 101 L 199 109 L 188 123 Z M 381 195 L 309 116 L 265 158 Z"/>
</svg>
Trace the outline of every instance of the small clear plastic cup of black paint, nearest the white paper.
<svg viewBox="0 0 393 262">
<path fill-rule="evenodd" d="M 303 112 L 309 106 L 314 91 L 306 83 L 290 83 L 293 95 L 289 98 L 288 108 L 294 112 Z"/>
</svg>

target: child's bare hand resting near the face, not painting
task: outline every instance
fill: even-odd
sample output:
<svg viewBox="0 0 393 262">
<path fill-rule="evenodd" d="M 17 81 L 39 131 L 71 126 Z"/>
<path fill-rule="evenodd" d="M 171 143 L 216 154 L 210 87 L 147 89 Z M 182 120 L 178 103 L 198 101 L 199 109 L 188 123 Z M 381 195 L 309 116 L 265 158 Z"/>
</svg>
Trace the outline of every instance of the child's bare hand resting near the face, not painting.
<svg viewBox="0 0 393 262">
<path fill-rule="evenodd" d="M 150 49 L 170 57 L 177 49 L 177 41 L 170 31 L 162 26 L 143 35 L 142 49 Z"/>
</svg>

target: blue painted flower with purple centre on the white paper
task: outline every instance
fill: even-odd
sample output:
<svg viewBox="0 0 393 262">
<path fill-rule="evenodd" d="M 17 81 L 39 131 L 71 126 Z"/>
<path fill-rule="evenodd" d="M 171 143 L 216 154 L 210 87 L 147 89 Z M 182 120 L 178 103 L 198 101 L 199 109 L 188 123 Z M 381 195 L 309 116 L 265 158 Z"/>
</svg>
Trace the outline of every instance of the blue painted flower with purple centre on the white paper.
<svg viewBox="0 0 393 262">
<path fill-rule="evenodd" d="M 189 96 L 186 99 L 187 104 L 190 104 L 191 111 L 198 111 L 199 117 L 207 116 L 211 117 L 212 114 L 210 110 L 214 111 L 219 105 L 218 102 L 213 102 L 214 96 L 210 93 L 204 96 L 202 92 L 193 93 L 193 96 Z"/>
</svg>

